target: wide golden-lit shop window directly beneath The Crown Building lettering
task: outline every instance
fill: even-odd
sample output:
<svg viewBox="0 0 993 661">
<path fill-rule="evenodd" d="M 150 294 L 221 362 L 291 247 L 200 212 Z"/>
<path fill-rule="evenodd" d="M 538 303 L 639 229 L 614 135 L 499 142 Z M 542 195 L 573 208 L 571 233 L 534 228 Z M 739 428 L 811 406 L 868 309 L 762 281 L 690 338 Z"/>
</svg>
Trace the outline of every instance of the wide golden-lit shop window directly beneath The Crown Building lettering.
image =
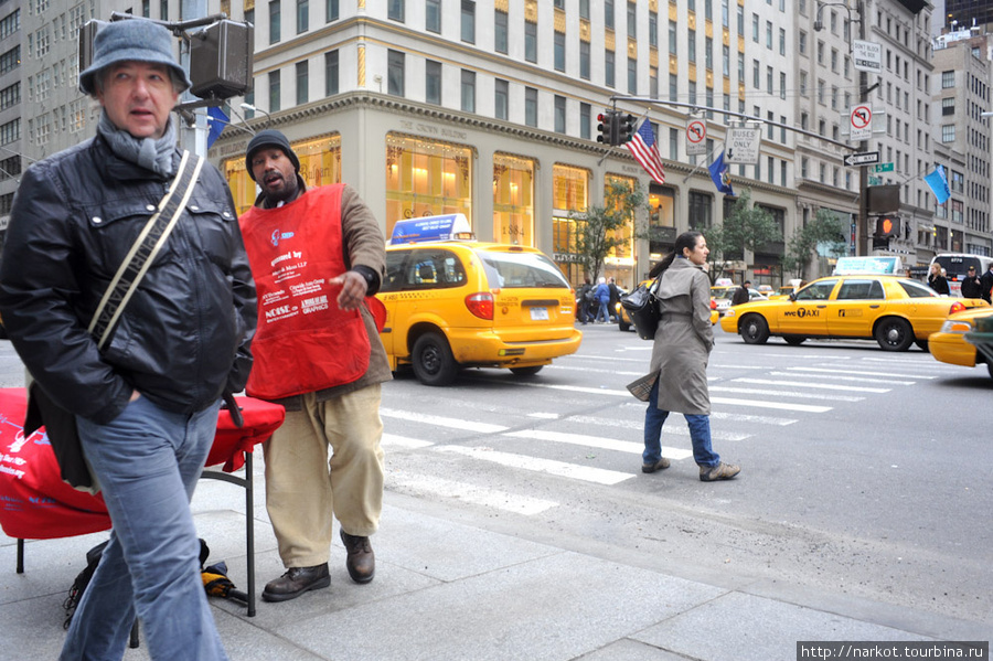
<svg viewBox="0 0 993 661">
<path fill-rule="evenodd" d="M 472 150 L 387 135 L 386 236 L 397 221 L 449 213 L 472 217 Z"/>
</svg>

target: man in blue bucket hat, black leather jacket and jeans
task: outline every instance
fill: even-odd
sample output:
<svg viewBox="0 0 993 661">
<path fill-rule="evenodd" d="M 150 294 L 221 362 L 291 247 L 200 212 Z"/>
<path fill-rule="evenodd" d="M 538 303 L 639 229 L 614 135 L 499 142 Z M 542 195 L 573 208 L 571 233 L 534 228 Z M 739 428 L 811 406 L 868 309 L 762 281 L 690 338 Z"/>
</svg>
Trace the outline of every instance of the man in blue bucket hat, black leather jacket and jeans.
<svg viewBox="0 0 993 661">
<path fill-rule="evenodd" d="M 220 399 L 247 380 L 256 298 L 227 184 L 177 149 L 171 113 L 189 86 L 164 28 L 104 26 L 79 74 L 103 106 L 96 136 L 32 164 L 11 211 L 3 322 L 56 455 L 73 444 L 53 435 L 52 416 L 75 423 L 82 457 L 60 456 L 63 476 L 98 487 L 113 523 L 61 661 L 121 659 L 136 616 L 152 659 L 227 659 L 190 498 Z M 162 217 L 173 224 L 157 233 Z M 121 265 L 139 263 L 149 235 L 147 270 L 128 275 Z M 102 329 L 90 322 L 115 274 L 136 287 Z"/>
</svg>

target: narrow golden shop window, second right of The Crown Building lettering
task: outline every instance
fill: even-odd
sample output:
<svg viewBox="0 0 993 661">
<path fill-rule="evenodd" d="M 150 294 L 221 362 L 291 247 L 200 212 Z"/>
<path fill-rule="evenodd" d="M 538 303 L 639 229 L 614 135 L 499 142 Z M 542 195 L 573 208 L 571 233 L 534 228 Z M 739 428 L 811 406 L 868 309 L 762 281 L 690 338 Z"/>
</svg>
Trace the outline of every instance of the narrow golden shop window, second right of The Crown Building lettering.
<svg viewBox="0 0 993 661">
<path fill-rule="evenodd" d="M 552 246 L 553 258 L 574 287 L 583 284 L 584 274 L 576 254 L 577 223 L 570 214 L 581 214 L 589 205 L 589 170 L 569 166 L 552 169 Z"/>
</svg>

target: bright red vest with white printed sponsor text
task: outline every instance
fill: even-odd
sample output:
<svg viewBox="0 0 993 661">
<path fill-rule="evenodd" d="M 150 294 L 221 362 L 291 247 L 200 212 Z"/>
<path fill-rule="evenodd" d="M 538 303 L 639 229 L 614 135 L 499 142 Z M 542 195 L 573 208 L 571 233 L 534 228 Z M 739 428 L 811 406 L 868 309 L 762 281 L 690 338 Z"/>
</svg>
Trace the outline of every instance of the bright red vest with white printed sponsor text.
<svg viewBox="0 0 993 661">
<path fill-rule="evenodd" d="M 278 209 L 238 218 L 258 292 L 258 330 L 246 391 L 279 399 L 351 383 L 369 369 L 359 310 L 338 307 L 343 185 L 310 189 Z"/>
</svg>

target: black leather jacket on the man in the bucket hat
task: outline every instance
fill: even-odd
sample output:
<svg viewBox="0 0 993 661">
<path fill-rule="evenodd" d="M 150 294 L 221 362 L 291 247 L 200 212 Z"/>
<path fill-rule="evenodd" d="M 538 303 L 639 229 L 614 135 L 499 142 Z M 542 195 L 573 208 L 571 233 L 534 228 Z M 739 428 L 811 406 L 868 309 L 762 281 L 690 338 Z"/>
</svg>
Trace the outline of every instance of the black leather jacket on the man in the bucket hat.
<svg viewBox="0 0 993 661">
<path fill-rule="evenodd" d="M 98 136 L 32 164 L 14 198 L 0 262 L 4 327 L 49 396 L 98 424 L 132 390 L 189 414 L 248 379 L 255 284 L 231 191 L 209 164 L 111 339 L 98 350 L 87 332 L 169 184 Z"/>
</svg>

